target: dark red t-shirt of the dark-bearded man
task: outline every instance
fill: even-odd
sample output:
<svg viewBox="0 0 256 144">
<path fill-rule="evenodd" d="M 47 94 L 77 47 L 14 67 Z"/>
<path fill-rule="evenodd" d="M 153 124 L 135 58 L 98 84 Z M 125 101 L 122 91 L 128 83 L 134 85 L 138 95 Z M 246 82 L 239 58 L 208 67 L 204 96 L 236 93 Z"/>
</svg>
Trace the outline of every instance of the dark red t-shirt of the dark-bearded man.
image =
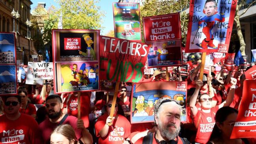
<svg viewBox="0 0 256 144">
<path fill-rule="evenodd" d="M 76 127 L 76 123 L 77 123 L 77 118 L 74 116 L 68 116 L 66 120 L 63 122 L 63 124 L 70 124 L 70 126 L 73 127 L 76 133 L 76 138 L 79 139 L 82 137 L 82 130 Z M 43 122 L 41 122 L 41 124 L 39 124 L 39 129 L 45 144 L 47 142 L 50 142 L 51 133 L 54 130 L 54 128 L 58 126 L 58 124 L 59 122 L 56 122 L 56 123 L 50 122 L 48 118 Z"/>
</svg>

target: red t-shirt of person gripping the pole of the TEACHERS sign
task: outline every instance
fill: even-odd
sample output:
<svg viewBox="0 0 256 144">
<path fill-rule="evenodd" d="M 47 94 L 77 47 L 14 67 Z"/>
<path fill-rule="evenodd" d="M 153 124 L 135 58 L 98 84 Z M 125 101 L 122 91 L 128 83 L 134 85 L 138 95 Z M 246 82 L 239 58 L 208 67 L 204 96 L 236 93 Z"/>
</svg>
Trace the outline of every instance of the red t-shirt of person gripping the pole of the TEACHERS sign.
<svg viewBox="0 0 256 144">
<path fill-rule="evenodd" d="M 114 119 L 112 126 L 109 126 L 108 134 L 106 137 L 100 137 L 99 131 L 105 126 L 108 114 L 105 113 L 100 116 L 95 124 L 96 137 L 99 137 L 99 144 L 122 144 L 122 139 L 127 138 L 130 135 L 131 124 L 122 115 L 118 115 L 117 119 Z M 115 129 L 115 130 L 114 130 Z"/>
</svg>

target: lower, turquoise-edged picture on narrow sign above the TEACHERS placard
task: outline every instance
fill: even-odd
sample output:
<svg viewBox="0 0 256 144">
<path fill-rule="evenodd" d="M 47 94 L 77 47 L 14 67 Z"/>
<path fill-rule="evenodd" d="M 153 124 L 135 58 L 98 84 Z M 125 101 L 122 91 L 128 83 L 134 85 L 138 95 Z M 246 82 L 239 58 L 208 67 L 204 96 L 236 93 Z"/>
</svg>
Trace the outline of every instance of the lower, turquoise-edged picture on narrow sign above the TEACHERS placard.
<svg viewBox="0 0 256 144">
<path fill-rule="evenodd" d="M 115 37 L 127 40 L 141 39 L 139 22 L 115 22 Z"/>
</svg>

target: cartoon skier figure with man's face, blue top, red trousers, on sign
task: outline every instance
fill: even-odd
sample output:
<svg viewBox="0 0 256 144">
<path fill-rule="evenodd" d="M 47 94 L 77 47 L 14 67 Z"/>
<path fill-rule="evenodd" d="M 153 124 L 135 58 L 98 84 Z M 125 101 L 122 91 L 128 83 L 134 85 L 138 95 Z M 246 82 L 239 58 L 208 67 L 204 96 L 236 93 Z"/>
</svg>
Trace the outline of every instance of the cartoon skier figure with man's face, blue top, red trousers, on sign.
<svg viewBox="0 0 256 144">
<path fill-rule="evenodd" d="M 198 22 L 198 28 L 204 27 L 202 32 L 206 36 L 206 38 L 200 43 L 198 46 L 207 49 L 210 48 L 217 48 L 213 44 L 213 34 L 211 30 L 214 28 L 215 23 L 224 22 L 225 16 L 224 13 L 221 13 L 221 16 L 217 15 L 217 2 L 215 0 L 206 0 L 204 4 L 203 13 L 205 13 L 205 17 L 201 18 Z"/>
</svg>

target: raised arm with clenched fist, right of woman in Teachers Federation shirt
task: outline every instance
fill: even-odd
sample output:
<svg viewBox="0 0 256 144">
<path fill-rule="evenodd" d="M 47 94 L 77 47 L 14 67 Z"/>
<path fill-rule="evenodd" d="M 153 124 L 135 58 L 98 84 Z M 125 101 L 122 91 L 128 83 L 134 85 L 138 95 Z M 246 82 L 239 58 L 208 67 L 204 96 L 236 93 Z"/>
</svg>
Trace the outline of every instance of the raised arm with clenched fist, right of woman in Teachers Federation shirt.
<svg viewBox="0 0 256 144">
<path fill-rule="evenodd" d="M 230 80 L 231 86 L 230 86 L 230 90 L 228 92 L 227 99 L 219 105 L 219 108 L 229 106 L 233 102 L 234 95 L 235 95 L 235 89 L 236 89 L 236 82 L 237 82 L 237 80 L 235 78 L 231 78 L 231 80 Z"/>
</svg>

